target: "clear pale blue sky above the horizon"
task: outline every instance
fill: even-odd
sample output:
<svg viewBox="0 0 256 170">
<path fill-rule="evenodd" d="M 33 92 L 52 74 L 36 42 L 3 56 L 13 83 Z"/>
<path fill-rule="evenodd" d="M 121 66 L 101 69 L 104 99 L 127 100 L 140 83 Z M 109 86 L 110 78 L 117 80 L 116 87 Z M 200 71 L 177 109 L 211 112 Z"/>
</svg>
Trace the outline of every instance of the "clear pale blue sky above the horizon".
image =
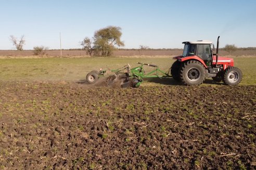
<svg viewBox="0 0 256 170">
<path fill-rule="evenodd" d="M 0 0 L 0 50 L 14 49 L 9 36 L 25 36 L 34 46 L 81 48 L 96 30 L 122 28 L 124 48 L 183 48 L 187 40 L 220 46 L 256 47 L 256 1 L 246 0 Z M 216 43 L 215 43 L 216 44 Z"/>
</svg>

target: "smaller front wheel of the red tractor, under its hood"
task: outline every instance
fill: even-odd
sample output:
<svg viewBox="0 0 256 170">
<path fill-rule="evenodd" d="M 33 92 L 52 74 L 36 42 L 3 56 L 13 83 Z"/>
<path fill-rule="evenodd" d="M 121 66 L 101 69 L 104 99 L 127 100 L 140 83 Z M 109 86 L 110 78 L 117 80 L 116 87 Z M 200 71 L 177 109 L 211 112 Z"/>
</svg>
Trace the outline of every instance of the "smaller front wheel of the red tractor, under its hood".
<svg viewBox="0 0 256 170">
<path fill-rule="evenodd" d="M 242 72 L 239 68 L 228 67 L 225 70 L 223 81 L 229 86 L 234 86 L 242 80 Z"/>
</svg>

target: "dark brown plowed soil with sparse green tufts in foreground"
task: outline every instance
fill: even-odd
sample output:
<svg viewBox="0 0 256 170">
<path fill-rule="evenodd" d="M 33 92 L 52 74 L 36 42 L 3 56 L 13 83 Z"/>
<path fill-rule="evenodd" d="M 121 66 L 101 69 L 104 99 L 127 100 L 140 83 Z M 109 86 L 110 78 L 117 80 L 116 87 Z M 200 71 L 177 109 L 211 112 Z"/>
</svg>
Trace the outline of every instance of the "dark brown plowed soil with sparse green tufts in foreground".
<svg viewBox="0 0 256 170">
<path fill-rule="evenodd" d="M 0 83 L 2 169 L 253 169 L 256 86 Z"/>
</svg>

